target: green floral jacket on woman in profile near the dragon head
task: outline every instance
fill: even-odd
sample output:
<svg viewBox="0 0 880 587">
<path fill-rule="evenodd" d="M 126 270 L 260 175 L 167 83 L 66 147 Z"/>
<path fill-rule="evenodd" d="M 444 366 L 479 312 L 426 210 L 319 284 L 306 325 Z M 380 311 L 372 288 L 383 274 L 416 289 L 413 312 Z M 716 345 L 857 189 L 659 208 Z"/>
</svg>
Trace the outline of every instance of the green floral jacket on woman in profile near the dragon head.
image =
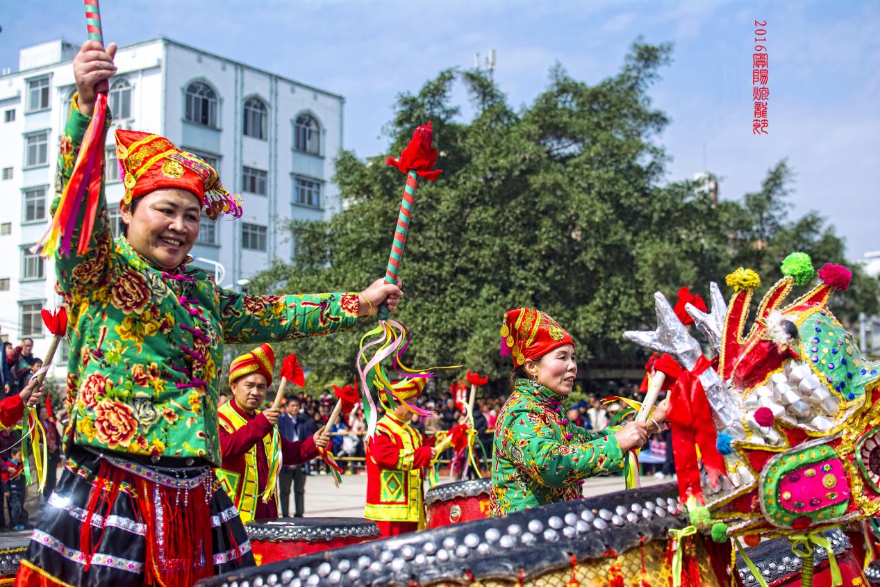
<svg viewBox="0 0 880 587">
<path fill-rule="evenodd" d="M 495 422 L 492 515 L 577 499 L 583 479 L 623 469 L 617 429 L 594 432 L 568 422 L 561 400 L 544 385 L 517 379 Z"/>
</svg>

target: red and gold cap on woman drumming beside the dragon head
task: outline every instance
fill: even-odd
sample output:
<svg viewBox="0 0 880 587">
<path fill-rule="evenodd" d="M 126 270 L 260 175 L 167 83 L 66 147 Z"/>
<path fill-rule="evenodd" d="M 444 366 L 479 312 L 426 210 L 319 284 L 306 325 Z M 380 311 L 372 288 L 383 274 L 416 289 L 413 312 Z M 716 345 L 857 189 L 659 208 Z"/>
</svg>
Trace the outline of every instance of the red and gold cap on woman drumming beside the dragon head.
<svg viewBox="0 0 880 587">
<path fill-rule="evenodd" d="M 501 354 L 513 356 L 514 368 L 525 359 L 539 359 L 551 350 L 575 342 L 556 320 L 539 310 L 517 308 L 504 313 Z"/>
</svg>

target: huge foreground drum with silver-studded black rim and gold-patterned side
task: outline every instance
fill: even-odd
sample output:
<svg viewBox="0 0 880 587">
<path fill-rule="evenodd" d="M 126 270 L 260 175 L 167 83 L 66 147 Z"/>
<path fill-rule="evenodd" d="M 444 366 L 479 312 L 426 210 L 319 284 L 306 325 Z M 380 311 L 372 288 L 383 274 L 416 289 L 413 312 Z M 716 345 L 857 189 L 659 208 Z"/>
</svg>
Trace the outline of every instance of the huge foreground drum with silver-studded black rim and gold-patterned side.
<svg viewBox="0 0 880 587">
<path fill-rule="evenodd" d="M 198 584 L 565 587 L 571 581 L 605 585 L 612 576 L 622 576 L 621 584 L 630 585 L 642 577 L 643 557 L 643 578 L 651 585 L 668 585 L 669 530 L 688 524 L 687 516 L 678 513 L 675 485 L 665 484 L 372 540 Z M 699 574 L 704 587 L 729 585 L 729 576 L 715 575 L 702 537 L 685 540 L 691 577 Z M 730 549 L 717 558 L 729 564 Z"/>
</svg>

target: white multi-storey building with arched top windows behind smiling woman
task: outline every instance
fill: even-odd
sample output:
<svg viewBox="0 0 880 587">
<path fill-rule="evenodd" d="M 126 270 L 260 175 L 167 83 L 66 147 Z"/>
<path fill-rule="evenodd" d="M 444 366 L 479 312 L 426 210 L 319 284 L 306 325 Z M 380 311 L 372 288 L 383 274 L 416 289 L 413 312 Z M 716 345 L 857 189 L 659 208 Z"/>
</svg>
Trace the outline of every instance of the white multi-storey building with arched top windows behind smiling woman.
<svg viewBox="0 0 880 587">
<path fill-rule="evenodd" d="M 23 48 L 18 71 L 0 75 L 0 327 L 4 340 L 32 337 L 40 357 L 48 349 L 40 309 L 54 308 L 60 298 L 53 263 L 28 249 L 48 226 L 77 49 L 63 40 Z M 342 146 L 341 95 L 165 38 L 120 48 L 115 62 L 114 124 L 106 143 L 114 230 L 124 192 L 115 128 L 167 136 L 214 165 L 224 187 L 243 194 L 244 216 L 216 223 L 203 217 L 190 253 L 227 287 L 272 259 L 292 258 L 286 220 L 322 219 L 341 208 L 329 181 Z M 66 373 L 62 365 L 48 375 Z"/>
</svg>

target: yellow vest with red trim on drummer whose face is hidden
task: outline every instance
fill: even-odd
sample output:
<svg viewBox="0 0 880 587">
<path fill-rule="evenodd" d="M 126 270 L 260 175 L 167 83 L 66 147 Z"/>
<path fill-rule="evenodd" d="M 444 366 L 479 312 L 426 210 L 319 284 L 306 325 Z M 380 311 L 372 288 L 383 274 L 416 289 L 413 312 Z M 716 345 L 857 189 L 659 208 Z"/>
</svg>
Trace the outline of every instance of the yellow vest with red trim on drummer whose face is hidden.
<svg viewBox="0 0 880 587">
<path fill-rule="evenodd" d="M 422 469 L 413 469 L 413 454 L 422 447 L 422 433 L 392 415 L 376 425 L 376 433 L 391 438 L 400 448 L 397 466 L 384 469 L 370 457 L 367 444 L 367 504 L 363 517 L 389 522 L 418 522 L 424 526 Z"/>
</svg>

